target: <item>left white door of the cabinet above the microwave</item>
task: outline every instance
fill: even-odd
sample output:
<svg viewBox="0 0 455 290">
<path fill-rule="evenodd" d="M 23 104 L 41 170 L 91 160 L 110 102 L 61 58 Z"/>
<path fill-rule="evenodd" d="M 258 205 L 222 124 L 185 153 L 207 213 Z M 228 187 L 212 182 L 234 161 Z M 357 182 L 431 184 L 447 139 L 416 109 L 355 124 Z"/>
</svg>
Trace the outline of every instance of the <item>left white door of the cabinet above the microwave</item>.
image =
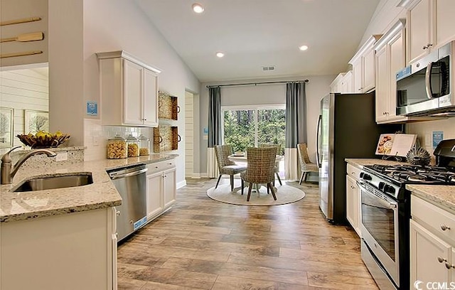
<svg viewBox="0 0 455 290">
<path fill-rule="evenodd" d="M 409 62 L 417 60 L 427 54 L 432 43 L 431 28 L 431 3 L 432 0 L 421 0 L 412 7 L 408 13 L 408 36 Z"/>
</svg>

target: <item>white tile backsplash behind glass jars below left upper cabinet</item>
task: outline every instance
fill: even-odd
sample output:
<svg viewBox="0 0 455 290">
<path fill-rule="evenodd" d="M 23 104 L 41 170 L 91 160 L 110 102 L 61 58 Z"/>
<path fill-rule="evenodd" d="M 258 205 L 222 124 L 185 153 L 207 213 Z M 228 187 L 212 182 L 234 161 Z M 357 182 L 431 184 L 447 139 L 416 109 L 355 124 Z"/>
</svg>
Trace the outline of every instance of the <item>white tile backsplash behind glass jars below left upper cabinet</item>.
<svg viewBox="0 0 455 290">
<path fill-rule="evenodd" d="M 126 138 L 129 134 L 138 137 L 140 134 L 153 139 L 153 128 L 104 126 L 100 120 L 84 119 L 85 161 L 106 158 L 107 139 L 115 134 Z"/>
</svg>

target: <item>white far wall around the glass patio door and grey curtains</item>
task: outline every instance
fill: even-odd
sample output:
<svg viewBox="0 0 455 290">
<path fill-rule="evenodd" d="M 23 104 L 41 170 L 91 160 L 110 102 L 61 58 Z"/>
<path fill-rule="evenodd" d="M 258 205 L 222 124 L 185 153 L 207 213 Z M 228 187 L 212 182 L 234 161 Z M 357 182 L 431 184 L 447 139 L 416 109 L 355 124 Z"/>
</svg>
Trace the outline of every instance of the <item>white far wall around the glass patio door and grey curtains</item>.
<svg viewBox="0 0 455 290">
<path fill-rule="evenodd" d="M 200 174 L 207 176 L 208 140 L 203 139 L 203 128 L 208 128 L 208 88 L 207 85 L 229 83 L 272 82 L 283 80 L 306 80 L 306 129 L 311 161 L 316 161 L 316 122 L 319 116 L 319 101 L 328 94 L 329 85 L 335 75 L 294 77 L 287 79 L 241 80 L 232 82 L 203 83 L 200 88 Z M 248 85 L 221 88 L 222 105 L 286 104 L 286 84 Z"/>
</svg>

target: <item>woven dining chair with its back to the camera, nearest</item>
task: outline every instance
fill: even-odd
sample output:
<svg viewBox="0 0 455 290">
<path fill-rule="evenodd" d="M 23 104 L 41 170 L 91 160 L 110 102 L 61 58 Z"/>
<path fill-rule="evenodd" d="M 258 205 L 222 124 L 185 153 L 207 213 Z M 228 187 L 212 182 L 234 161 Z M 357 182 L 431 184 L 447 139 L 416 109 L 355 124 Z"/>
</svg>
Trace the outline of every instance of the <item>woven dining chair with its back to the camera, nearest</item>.
<svg viewBox="0 0 455 290">
<path fill-rule="evenodd" d="M 264 183 L 267 184 L 267 193 L 269 193 L 269 190 L 272 190 L 273 199 L 277 200 L 272 184 L 275 180 L 274 166 L 276 156 L 277 147 L 247 148 L 247 170 L 240 173 L 240 177 L 242 178 L 242 194 L 245 182 L 250 183 L 247 201 L 250 201 L 253 186 L 257 185 L 258 190 L 259 184 Z"/>
</svg>

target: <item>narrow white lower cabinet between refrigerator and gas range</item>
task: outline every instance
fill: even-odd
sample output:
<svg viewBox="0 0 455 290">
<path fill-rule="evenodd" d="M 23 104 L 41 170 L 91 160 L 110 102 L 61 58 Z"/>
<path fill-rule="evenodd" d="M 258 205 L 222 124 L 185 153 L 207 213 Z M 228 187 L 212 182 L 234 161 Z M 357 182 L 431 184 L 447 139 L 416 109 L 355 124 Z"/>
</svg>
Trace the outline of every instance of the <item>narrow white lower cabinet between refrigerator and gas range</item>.
<svg viewBox="0 0 455 290">
<path fill-rule="evenodd" d="M 359 180 L 360 168 L 348 164 L 346 168 L 346 219 L 353 227 L 357 235 L 360 235 L 360 188 L 357 186 Z"/>
</svg>

